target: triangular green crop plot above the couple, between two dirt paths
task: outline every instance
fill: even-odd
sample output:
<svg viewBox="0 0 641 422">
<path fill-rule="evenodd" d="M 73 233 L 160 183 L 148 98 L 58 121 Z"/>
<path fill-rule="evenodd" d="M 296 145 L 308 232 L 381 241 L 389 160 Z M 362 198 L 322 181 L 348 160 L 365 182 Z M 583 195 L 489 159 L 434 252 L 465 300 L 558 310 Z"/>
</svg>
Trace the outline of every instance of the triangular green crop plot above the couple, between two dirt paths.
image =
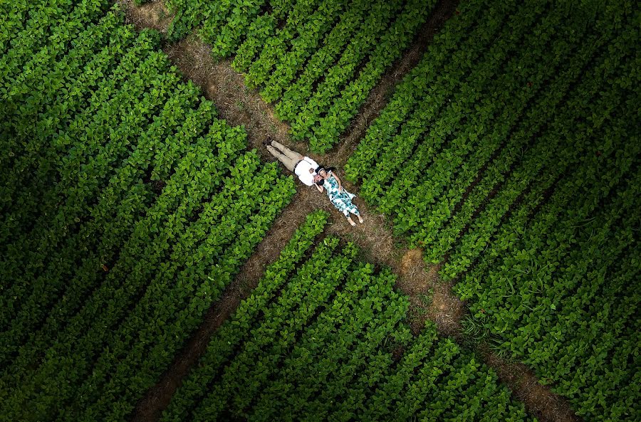
<svg viewBox="0 0 641 422">
<path fill-rule="evenodd" d="M 436 4 L 433 0 L 169 1 L 168 31 L 199 35 L 216 58 L 236 53 L 247 85 L 276 103 L 294 139 L 325 152 L 347 130 L 385 70 L 402 56 Z M 193 2 L 191 2 L 193 3 Z M 272 4 L 274 3 L 274 4 Z"/>
</svg>

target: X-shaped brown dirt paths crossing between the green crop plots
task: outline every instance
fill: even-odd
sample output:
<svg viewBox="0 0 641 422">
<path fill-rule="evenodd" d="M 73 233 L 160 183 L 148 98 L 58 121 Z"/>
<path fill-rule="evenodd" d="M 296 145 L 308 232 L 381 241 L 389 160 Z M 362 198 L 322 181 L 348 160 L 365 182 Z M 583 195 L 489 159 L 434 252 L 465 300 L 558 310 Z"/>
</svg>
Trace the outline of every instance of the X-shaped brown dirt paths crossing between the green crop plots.
<svg viewBox="0 0 641 422">
<path fill-rule="evenodd" d="M 139 29 L 155 28 L 164 32 L 171 21 L 170 14 L 159 0 L 140 7 L 134 6 L 131 0 L 122 0 L 119 3 L 126 6 L 127 21 Z M 358 116 L 338 142 L 338 147 L 323 156 L 307 153 L 307 145 L 304 143 L 291 142 L 288 125 L 275 117 L 273 107 L 266 104 L 256 90 L 246 88 L 244 77 L 231 68 L 231 60 L 214 63 L 209 55 L 209 48 L 195 36 L 165 46 L 163 50 L 185 78 L 199 85 L 205 97 L 217 105 L 220 117 L 231 125 L 245 127 L 249 146 L 255 148 L 264 160 L 273 160 L 261 143 L 269 136 L 299 152 L 309 154 L 318 162 L 341 169 L 365 134 L 370 122 L 385 107 L 395 84 L 416 65 L 434 33 L 454 12 L 455 4 L 455 0 L 439 1 L 434 14 L 424 24 L 409 51 L 392 65 L 372 90 Z M 348 182 L 345 185 L 350 191 L 358 190 Z M 234 312 L 239 302 L 256 287 L 266 265 L 276 260 L 296 227 L 315 209 L 325 209 L 331 213 L 332 219 L 327 230 L 329 234 L 355 242 L 360 246 L 365 260 L 388 265 L 399 275 L 397 288 L 410 297 L 412 328 L 416 332 L 422 328 L 424 320 L 429 319 L 437 324 L 442 334 L 459 337 L 460 320 L 467 310 L 464 302 L 452 293 L 452 284 L 439 280 L 437 266 L 427 268 L 421 250 L 409 250 L 396 243 L 385 216 L 370 209 L 360 199 L 357 199 L 356 203 L 365 223 L 352 228 L 345 218 L 333 209 L 324 195 L 319 194 L 316 189 L 300 185 L 291 204 L 276 219 L 254 255 L 226 288 L 222 300 L 212 305 L 202 326 L 179 352 L 161 381 L 138 403 L 132 421 L 152 422 L 160 418 L 160 413 L 169 403 L 175 389 L 204 352 L 209 337 Z M 578 421 L 570 416 L 571 411 L 567 403 L 551 393 L 546 386 L 538 384 L 536 377 L 523 365 L 506 363 L 488 352 L 481 351 L 481 355 L 542 422 Z"/>
</svg>

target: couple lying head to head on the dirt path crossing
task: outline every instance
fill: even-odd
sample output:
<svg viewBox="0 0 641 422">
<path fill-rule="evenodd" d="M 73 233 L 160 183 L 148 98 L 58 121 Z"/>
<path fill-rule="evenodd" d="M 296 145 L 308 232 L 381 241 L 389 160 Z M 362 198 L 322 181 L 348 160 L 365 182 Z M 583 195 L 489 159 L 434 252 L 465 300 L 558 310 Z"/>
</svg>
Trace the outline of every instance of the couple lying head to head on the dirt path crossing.
<svg viewBox="0 0 641 422">
<path fill-rule="evenodd" d="M 307 186 L 316 186 L 320 192 L 327 192 L 327 196 L 333 206 L 342 212 L 352 226 L 356 223 L 352 220 L 350 213 L 358 217 L 358 221 L 363 223 L 363 217 L 360 216 L 358 208 L 352 203 L 354 194 L 350 194 L 340 184 L 340 179 L 336 176 L 331 168 L 325 168 L 318 165 L 313 159 L 303 157 L 303 155 L 294 152 L 283 144 L 267 139 L 264 144 L 267 151 L 272 154 L 279 162 L 290 171 L 298 176 L 298 179 Z"/>
</svg>

